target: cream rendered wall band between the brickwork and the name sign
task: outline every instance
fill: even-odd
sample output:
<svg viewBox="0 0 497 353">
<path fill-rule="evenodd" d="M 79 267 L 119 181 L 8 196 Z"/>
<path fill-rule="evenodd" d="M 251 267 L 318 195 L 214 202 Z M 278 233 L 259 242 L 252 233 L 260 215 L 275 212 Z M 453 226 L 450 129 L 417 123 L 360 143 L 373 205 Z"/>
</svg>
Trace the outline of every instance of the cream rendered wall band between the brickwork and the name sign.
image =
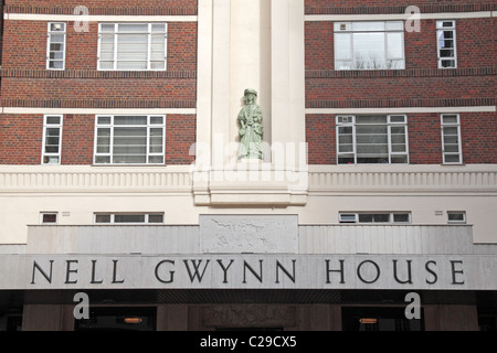
<svg viewBox="0 0 497 353">
<path fill-rule="evenodd" d="M 447 211 L 465 211 L 474 243 L 497 244 L 497 165 L 311 165 L 298 206 L 195 205 L 190 172 L 0 165 L 0 244 L 25 244 L 40 212 L 57 212 L 60 225 L 93 225 L 95 212 L 163 212 L 166 225 L 199 225 L 203 214 L 297 215 L 299 225 L 334 225 L 339 212 L 361 211 L 410 211 L 413 225 L 446 225 Z M 246 196 L 266 197 L 265 185 L 271 181 L 247 182 Z"/>
</svg>

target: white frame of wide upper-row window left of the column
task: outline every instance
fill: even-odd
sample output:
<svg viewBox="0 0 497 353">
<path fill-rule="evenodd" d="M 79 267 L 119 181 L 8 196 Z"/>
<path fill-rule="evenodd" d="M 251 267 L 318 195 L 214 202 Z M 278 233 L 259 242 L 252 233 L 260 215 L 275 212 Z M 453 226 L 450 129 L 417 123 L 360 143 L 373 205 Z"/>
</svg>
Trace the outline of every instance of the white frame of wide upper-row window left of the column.
<svg viewBox="0 0 497 353">
<path fill-rule="evenodd" d="M 114 32 L 113 33 L 105 33 L 102 31 L 102 25 L 109 25 L 109 24 L 114 24 Z M 147 41 L 147 68 L 118 68 L 117 67 L 117 44 L 118 43 L 118 35 L 119 34 L 133 34 L 133 32 L 119 32 L 119 24 L 126 24 L 126 22 L 115 22 L 115 23 L 108 23 L 108 22 L 103 22 L 103 23 L 98 23 L 98 46 L 97 46 L 97 71 L 167 71 L 168 68 L 168 23 L 167 22 L 150 22 L 150 23 L 134 23 L 134 24 L 147 24 L 148 25 L 148 31 L 147 33 L 145 32 L 137 32 L 137 34 L 147 34 L 148 35 L 148 41 Z M 150 62 L 152 62 L 151 60 L 151 36 L 152 36 L 152 25 L 154 24 L 163 24 L 166 26 L 166 32 L 165 32 L 165 57 L 163 57 L 163 67 L 161 68 L 151 68 L 150 67 Z M 102 50 L 102 35 L 103 34 L 114 34 L 114 60 L 113 62 L 113 68 L 102 68 L 101 66 L 101 50 Z M 110 62 L 110 61 L 104 61 L 104 62 Z"/>
</svg>

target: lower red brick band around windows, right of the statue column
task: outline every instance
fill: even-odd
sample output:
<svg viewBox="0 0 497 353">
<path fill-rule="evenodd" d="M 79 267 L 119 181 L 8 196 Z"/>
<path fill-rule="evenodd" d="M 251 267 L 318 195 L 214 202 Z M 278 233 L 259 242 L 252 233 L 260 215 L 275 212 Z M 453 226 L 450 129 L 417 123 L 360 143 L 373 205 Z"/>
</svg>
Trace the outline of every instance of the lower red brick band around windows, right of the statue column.
<svg viewBox="0 0 497 353">
<path fill-rule="evenodd" d="M 495 113 L 462 113 L 461 135 L 464 163 L 497 163 L 497 116 Z M 336 164 L 335 115 L 307 115 L 309 164 Z M 410 164 L 442 163 L 440 114 L 408 114 Z"/>
</svg>

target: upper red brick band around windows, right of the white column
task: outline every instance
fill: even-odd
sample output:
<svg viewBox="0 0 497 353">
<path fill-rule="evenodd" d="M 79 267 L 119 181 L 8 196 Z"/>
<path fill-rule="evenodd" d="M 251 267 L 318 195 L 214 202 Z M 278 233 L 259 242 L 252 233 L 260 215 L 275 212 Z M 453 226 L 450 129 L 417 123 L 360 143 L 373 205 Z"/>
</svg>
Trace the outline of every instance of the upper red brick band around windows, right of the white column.
<svg viewBox="0 0 497 353">
<path fill-rule="evenodd" d="M 335 72 L 332 23 L 307 22 L 307 107 L 353 99 L 388 99 L 390 106 L 395 100 L 400 105 L 402 99 L 495 99 L 497 58 L 493 22 L 491 19 L 456 21 L 457 69 L 437 68 L 435 21 L 426 20 L 422 21 L 421 32 L 404 34 L 405 69 L 338 72 Z"/>
</svg>

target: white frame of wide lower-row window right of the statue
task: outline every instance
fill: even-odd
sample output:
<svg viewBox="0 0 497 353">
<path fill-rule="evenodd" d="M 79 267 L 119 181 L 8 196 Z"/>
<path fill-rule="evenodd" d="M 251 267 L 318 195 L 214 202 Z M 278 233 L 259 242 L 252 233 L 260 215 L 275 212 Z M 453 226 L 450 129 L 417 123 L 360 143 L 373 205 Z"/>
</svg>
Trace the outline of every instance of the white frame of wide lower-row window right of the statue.
<svg viewBox="0 0 497 353">
<path fill-rule="evenodd" d="M 387 115 L 387 133 L 388 133 L 388 149 L 389 149 L 389 162 L 388 164 L 409 164 L 409 131 L 408 131 L 408 116 L 406 115 Z M 398 121 L 401 118 L 401 121 Z M 404 127 L 404 138 L 405 138 L 405 151 L 404 152 L 394 152 L 392 150 L 392 127 Z M 340 127 L 351 127 L 352 128 L 352 151 L 340 152 Z M 357 156 L 357 116 L 351 115 L 337 115 L 336 116 L 336 150 L 337 150 L 337 164 L 347 165 L 347 163 L 339 163 L 340 156 L 352 154 L 353 153 L 353 163 L 358 163 Z M 392 162 L 392 158 L 405 156 L 405 163 L 394 163 Z M 378 164 L 378 163 L 371 163 Z M 387 163 L 385 163 L 387 164 Z"/>
</svg>

